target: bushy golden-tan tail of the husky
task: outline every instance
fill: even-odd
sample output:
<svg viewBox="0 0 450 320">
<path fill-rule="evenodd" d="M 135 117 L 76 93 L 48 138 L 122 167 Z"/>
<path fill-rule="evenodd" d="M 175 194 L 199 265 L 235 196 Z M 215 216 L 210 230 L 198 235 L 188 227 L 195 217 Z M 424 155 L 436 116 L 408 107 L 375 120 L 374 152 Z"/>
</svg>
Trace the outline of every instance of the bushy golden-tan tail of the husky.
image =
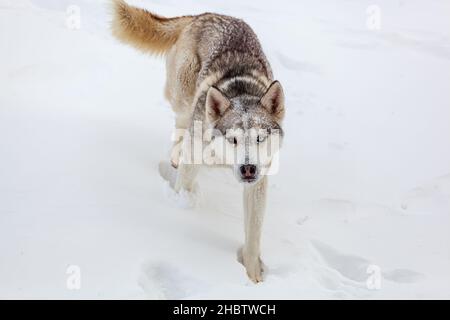
<svg viewBox="0 0 450 320">
<path fill-rule="evenodd" d="M 112 0 L 112 5 L 114 36 L 147 53 L 164 54 L 193 19 L 193 16 L 164 18 L 123 0 Z"/>
</svg>

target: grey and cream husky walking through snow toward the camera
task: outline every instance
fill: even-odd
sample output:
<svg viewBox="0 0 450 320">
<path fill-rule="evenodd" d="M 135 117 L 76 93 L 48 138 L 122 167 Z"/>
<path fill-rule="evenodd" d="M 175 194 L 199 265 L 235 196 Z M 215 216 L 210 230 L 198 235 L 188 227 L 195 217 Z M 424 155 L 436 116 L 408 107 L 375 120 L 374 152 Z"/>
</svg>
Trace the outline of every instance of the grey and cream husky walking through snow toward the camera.
<svg viewBox="0 0 450 320">
<path fill-rule="evenodd" d="M 262 281 L 267 176 L 281 145 L 285 109 L 283 89 L 255 33 L 225 15 L 164 18 L 123 0 L 112 4 L 112 31 L 119 40 L 166 57 L 165 96 L 179 133 L 166 163 L 175 172 L 171 186 L 194 192 L 200 165 L 232 168 L 243 185 L 245 243 L 239 261 L 253 282 Z"/>
</svg>

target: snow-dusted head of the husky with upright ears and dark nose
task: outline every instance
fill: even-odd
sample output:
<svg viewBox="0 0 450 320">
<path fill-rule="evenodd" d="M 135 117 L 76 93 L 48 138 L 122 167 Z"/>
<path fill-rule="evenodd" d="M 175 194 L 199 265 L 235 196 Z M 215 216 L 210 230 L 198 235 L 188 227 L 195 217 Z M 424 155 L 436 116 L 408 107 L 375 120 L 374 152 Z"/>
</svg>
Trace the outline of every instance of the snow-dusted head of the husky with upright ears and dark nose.
<svg viewBox="0 0 450 320">
<path fill-rule="evenodd" d="M 284 94 L 281 84 L 273 82 L 260 97 L 240 95 L 228 98 L 216 87 L 206 96 L 206 120 L 225 146 L 238 181 L 257 182 L 267 174 L 281 146 Z"/>
</svg>

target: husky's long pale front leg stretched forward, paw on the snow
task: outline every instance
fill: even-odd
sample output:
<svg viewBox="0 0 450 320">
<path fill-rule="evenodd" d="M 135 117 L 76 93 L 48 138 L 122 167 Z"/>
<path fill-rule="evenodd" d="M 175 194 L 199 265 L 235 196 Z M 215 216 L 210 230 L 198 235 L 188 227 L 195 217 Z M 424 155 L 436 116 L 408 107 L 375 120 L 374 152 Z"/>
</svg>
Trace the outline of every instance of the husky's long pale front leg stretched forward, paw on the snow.
<svg viewBox="0 0 450 320">
<path fill-rule="evenodd" d="M 245 244 L 240 259 L 253 282 L 262 281 L 260 258 L 261 229 L 266 207 L 267 176 L 256 184 L 244 186 Z"/>
</svg>

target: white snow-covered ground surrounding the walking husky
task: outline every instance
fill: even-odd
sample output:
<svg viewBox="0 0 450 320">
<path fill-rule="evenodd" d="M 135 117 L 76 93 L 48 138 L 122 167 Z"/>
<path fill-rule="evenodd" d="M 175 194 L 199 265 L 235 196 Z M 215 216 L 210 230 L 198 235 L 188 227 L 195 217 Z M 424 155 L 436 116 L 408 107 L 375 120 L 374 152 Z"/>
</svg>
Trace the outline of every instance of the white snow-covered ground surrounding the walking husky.
<svg viewBox="0 0 450 320">
<path fill-rule="evenodd" d="M 450 2 L 129 1 L 244 18 L 285 87 L 258 285 L 231 173 L 159 177 L 164 62 L 106 2 L 0 0 L 0 298 L 450 298 Z"/>
</svg>

